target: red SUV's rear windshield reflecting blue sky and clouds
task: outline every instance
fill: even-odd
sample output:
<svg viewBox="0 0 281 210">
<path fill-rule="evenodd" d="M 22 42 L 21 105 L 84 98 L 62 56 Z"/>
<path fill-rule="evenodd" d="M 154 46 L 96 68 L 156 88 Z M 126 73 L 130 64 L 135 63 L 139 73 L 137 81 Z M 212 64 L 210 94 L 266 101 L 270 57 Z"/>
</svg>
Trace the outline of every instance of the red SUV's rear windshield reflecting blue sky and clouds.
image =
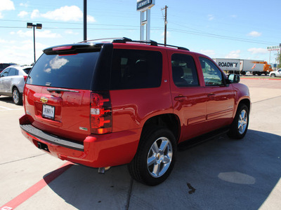
<svg viewBox="0 0 281 210">
<path fill-rule="evenodd" d="M 27 84 L 90 90 L 100 52 L 74 55 L 43 54 L 34 64 Z"/>
</svg>

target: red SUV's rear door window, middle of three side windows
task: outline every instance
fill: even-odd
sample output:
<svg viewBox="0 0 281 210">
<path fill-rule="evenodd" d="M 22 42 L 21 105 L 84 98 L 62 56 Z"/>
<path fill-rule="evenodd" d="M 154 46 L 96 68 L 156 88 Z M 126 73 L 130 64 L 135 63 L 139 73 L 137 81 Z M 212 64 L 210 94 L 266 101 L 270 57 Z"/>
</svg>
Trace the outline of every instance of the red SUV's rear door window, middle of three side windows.
<svg viewBox="0 0 281 210">
<path fill-rule="evenodd" d="M 178 87 L 198 86 L 198 75 L 191 55 L 173 54 L 171 56 L 173 80 Z"/>
</svg>

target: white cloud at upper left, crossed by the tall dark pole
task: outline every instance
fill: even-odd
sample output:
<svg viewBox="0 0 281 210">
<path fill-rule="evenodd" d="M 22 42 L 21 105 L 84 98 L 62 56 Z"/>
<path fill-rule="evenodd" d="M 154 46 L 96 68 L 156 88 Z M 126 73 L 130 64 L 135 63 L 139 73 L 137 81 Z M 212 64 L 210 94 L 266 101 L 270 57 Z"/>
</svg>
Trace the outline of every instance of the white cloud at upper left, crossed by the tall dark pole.
<svg viewBox="0 0 281 210">
<path fill-rule="evenodd" d="M 39 13 L 39 11 L 38 11 Z M 83 20 L 83 12 L 78 6 L 62 6 L 53 11 L 48 11 L 45 14 L 40 14 L 41 17 L 50 20 L 62 20 L 62 21 L 81 21 Z M 91 15 L 87 15 L 89 22 L 96 22 L 95 18 Z"/>
</svg>

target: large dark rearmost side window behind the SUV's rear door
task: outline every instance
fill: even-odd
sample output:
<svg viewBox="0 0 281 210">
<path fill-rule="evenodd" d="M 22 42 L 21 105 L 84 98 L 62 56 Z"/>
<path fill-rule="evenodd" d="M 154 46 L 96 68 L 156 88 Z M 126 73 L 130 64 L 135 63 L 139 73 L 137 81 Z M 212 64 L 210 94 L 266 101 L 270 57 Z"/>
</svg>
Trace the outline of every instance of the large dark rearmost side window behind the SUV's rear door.
<svg viewBox="0 0 281 210">
<path fill-rule="evenodd" d="M 113 51 L 111 90 L 159 87 L 161 80 L 161 52 L 125 49 Z"/>
</svg>

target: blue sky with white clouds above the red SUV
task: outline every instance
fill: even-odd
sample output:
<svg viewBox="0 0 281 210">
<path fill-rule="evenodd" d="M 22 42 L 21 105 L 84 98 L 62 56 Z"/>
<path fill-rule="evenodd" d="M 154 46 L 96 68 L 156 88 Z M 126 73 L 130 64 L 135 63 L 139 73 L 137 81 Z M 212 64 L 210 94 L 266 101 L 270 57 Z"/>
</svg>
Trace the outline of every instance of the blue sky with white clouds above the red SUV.
<svg viewBox="0 0 281 210">
<path fill-rule="evenodd" d="M 140 40 L 141 13 L 136 0 L 87 0 L 87 39 L 128 37 Z M 83 41 L 82 0 L 0 0 L 0 62 L 34 62 L 54 45 Z M 155 0 L 151 8 L 150 39 L 200 52 L 211 58 L 259 59 L 275 63 L 281 43 L 281 1 Z"/>
</svg>

